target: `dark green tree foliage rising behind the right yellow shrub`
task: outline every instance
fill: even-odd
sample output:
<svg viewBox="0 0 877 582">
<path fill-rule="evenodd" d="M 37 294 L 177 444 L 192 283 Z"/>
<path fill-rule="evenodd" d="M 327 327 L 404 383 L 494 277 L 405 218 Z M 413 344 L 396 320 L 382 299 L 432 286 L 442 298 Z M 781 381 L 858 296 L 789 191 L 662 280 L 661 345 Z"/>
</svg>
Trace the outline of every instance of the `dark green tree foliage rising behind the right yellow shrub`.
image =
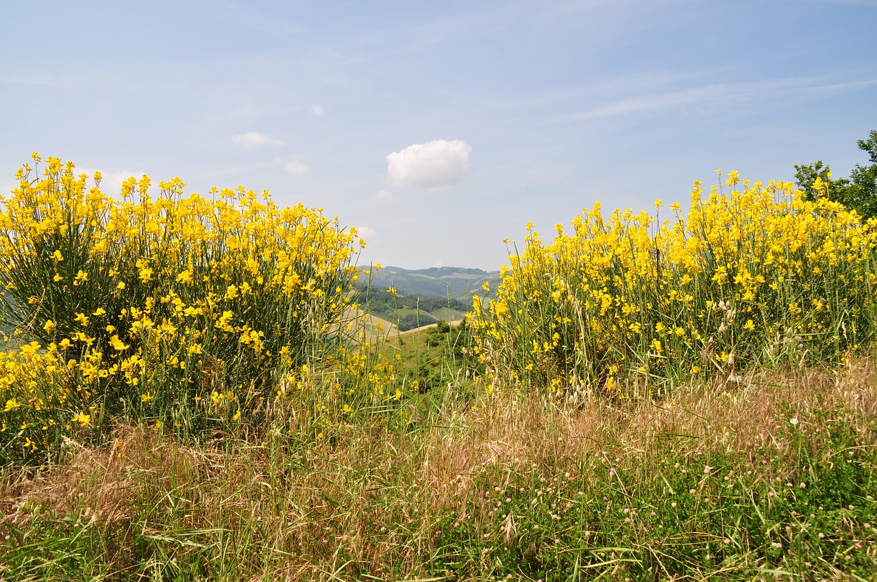
<svg viewBox="0 0 877 582">
<path fill-rule="evenodd" d="M 868 154 L 871 165 L 856 164 L 849 178 L 831 180 L 831 169 L 819 160 L 812 164 L 795 165 L 795 182 L 806 200 L 816 200 L 816 180 L 825 186 L 825 194 L 848 209 L 855 209 L 864 220 L 877 216 L 877 130 L 867 139 L 859 139 L 859 149 Z"/>
</svg>

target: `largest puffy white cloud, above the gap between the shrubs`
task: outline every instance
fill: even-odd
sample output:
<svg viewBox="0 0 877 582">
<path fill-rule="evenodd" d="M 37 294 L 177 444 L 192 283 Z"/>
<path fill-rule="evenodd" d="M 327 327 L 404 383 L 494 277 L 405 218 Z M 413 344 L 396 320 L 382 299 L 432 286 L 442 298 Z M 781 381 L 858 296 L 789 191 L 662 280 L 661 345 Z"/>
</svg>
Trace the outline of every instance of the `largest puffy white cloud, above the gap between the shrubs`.
<svg viewBox="0 0 877 582">
<path fill-rule="evenodd" d="M 460 139 L 409 145 L 387 156 L 387 177 L 403 188 L 450 186 L 462 181 L 471 152 L 472 145 Z"/>
</svg>

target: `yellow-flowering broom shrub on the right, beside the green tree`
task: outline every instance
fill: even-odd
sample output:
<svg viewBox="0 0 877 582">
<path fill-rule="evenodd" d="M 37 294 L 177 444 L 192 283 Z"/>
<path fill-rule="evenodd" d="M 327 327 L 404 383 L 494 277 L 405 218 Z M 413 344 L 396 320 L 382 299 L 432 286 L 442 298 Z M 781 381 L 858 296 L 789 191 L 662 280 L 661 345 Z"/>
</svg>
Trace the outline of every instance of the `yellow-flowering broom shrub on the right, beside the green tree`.
<svg viewBox="0 0 877 582">
<path fill-rule="evenodd" d="M 600 204 L 556 227 L 528 226 L 496 298 L 474 301 L 494 385 L 553 393 L 649 394 L 761 364 L 832 361 L 873 340 L 877 222 L 789 183 L 736 172 L 671 219 Z"/>
</svg>

